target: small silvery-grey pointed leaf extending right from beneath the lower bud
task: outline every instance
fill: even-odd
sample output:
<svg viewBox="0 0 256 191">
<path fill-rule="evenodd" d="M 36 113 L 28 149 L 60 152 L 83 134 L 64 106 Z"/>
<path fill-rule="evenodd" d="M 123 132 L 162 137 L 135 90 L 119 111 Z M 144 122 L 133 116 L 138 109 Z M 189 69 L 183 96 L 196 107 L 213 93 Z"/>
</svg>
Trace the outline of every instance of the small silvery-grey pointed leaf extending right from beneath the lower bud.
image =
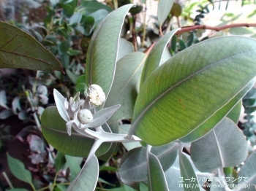
<svg viewBox="0 0 256 191">
<path fill-rule="evenodd" d="M 83 125 L 82 128 L 97 128 L 103 125 L 119 107 L 120 105 L 116 105 L 99 110 L 99 112 L 94 114 L 94 120 L 92 120 L 89 124 Z"/>
</svg>

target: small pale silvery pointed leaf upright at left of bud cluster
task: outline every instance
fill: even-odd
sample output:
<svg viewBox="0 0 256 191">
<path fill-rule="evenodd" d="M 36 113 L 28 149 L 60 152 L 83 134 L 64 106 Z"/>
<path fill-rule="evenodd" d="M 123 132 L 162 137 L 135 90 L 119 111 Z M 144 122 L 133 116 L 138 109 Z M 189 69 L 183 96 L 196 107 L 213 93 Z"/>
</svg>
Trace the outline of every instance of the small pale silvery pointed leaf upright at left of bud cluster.
<svg viewBox="0 0 256 191">
<path fill-rule="evenodd" d="M 53 96 L 54 96 L 54 100 L 55 100 L 59 114 L 65 121 L 68 122 L 69 115 L 67 114 L 67 110 L 65 109 L 65 106 L 64 106 L 65 98 L 56 89 L 53 90 Z"/>
</svg>

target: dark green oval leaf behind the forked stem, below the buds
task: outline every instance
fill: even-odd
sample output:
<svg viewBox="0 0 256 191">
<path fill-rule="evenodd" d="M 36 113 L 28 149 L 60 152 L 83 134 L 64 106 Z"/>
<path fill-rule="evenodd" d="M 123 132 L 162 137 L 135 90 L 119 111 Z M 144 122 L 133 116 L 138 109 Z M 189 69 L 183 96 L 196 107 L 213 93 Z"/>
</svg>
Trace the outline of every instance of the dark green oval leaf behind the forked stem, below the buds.
<svg viewBox="0 0 256 191">
<path fill-rule="evenodd" d="M 55 106 L 45 109 L 41 116 L 42 134 L 46 141 L 54 148 L 66 155 L 76 157 L 88 157 L 91 147 L 94 145 L 94 139 L 86 138 L 80 133 L 72 132 L 68 136 L 66 122 L 60 116 Z M 111 143 L 102 144 L 97 152 L 97 156 L 103 155 L 110 149 Z"/>
</svg>

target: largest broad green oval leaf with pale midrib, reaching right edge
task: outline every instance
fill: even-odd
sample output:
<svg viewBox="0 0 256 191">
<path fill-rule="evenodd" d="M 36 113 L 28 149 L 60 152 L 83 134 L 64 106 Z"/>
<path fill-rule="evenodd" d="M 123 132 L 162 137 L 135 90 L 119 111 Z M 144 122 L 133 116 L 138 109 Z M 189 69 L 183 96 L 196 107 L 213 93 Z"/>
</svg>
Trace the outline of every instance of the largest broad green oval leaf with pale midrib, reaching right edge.
<svg viewBox="0 0 256 191">
<path fill-rule="evenodd" d="M 179 52 L 144 82 L 129 135 L 151 145 L 186 136 L 255 77 L 255 59 L 256 41 L 241 36 L 208 39 Z"/>
</svg>

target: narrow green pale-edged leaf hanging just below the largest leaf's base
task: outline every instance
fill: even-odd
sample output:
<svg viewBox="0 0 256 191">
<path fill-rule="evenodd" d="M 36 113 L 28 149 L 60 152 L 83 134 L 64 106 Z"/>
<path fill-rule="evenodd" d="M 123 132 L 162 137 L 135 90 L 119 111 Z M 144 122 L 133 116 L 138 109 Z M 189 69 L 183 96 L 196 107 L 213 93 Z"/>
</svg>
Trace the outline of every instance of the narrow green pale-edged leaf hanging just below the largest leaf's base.
<svg viewBox="0 0 256 191">
<path fill-rule="evenodd" d="M 151 146 L 147 146 L 148 190 L 169 191 L 161 163 L 157 156 L 150 152 L 150 149 Z"/>
</svg>

